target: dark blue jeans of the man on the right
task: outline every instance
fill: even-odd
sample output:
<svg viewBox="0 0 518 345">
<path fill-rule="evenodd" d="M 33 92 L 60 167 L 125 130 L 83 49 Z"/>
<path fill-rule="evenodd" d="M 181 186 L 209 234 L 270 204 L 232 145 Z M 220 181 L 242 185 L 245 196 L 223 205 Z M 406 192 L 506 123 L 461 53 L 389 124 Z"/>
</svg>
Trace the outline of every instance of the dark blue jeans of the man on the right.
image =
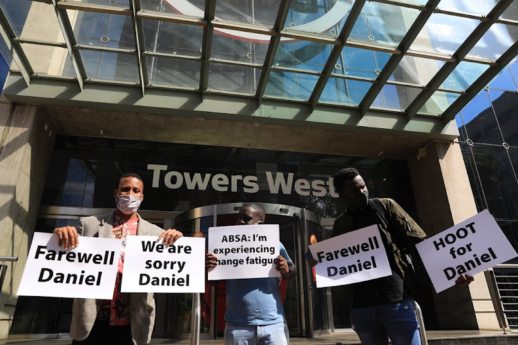
<svg viewBox="0 0 518 345">
<path fill-rule="evenodd" d="M 353 308 L 351 324 L 363 345 L 421 345 L 413 300 Z"/>
</svg>

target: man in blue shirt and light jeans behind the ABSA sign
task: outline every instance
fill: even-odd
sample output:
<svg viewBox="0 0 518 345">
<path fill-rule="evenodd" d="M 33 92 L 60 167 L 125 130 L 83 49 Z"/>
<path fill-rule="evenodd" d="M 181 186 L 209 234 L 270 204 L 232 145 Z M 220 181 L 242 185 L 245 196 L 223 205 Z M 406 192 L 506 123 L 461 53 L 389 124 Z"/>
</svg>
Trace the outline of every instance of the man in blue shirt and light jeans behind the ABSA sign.
<svg viewBox="0 0 518 345">
<path fill-rule="evenodd" d="M 236 225 L 256 225 L 265 221 L 265 210 L 256 204 L 240 208 Z M 276 269 L 283 279 L 293 280 L 297 269 L 289 259 L 286 248 L 280 245 Z M 207 269 L 218 265 L 217 257 L 209 253 Z M 212 285 L 218 281 L 211 281 Z M 287 345 L 289 333 L 276 277 L 227 280 L 227 312 L 225 313 L 225 345 L 264 344 Z"/>
</svg>

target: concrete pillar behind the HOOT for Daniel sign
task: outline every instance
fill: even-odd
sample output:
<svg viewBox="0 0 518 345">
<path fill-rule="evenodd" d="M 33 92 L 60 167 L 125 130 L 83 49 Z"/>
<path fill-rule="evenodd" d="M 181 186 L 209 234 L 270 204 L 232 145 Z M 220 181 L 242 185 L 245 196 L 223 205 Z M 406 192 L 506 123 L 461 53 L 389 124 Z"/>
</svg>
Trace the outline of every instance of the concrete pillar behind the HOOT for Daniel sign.
<svg viewBox="0 0 518 345">
<path fill-rule="evenodd" d="M 408 161 L 419 223 L 429 236 L 477 214 L 458 143 L 433 142 Z M 439 329 L 500 329 L 486 278 L 434 295 Z"/>
</svg>

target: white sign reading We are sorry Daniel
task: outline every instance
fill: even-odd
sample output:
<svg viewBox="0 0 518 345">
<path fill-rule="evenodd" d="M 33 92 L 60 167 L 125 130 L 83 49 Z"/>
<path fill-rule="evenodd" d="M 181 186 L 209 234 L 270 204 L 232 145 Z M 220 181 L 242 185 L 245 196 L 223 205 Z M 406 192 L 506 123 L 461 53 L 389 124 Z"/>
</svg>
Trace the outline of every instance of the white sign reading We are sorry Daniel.
<svg viewBox="0 0 518 345">
<path fill-rule="evenodd" d="M 204 293 L 205 239 L 180 237 L 164 246 L 156 236 L 126 237 L 123 293 Z"/>
</svg>

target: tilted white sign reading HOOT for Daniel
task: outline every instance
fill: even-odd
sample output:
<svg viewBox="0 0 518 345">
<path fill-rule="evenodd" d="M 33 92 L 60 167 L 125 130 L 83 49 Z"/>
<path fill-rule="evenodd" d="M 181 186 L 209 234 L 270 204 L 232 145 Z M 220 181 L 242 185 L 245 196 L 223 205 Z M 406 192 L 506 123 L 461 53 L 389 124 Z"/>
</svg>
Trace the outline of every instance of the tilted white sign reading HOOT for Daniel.
<svg viewBox="0 0 518 345">
<path fill-rule="evenodd" d="M 435 291 L 454 286 L 461 273 L 474 275 L 517 256 L 488 210 L 416 244 Z"/>
</svg>

